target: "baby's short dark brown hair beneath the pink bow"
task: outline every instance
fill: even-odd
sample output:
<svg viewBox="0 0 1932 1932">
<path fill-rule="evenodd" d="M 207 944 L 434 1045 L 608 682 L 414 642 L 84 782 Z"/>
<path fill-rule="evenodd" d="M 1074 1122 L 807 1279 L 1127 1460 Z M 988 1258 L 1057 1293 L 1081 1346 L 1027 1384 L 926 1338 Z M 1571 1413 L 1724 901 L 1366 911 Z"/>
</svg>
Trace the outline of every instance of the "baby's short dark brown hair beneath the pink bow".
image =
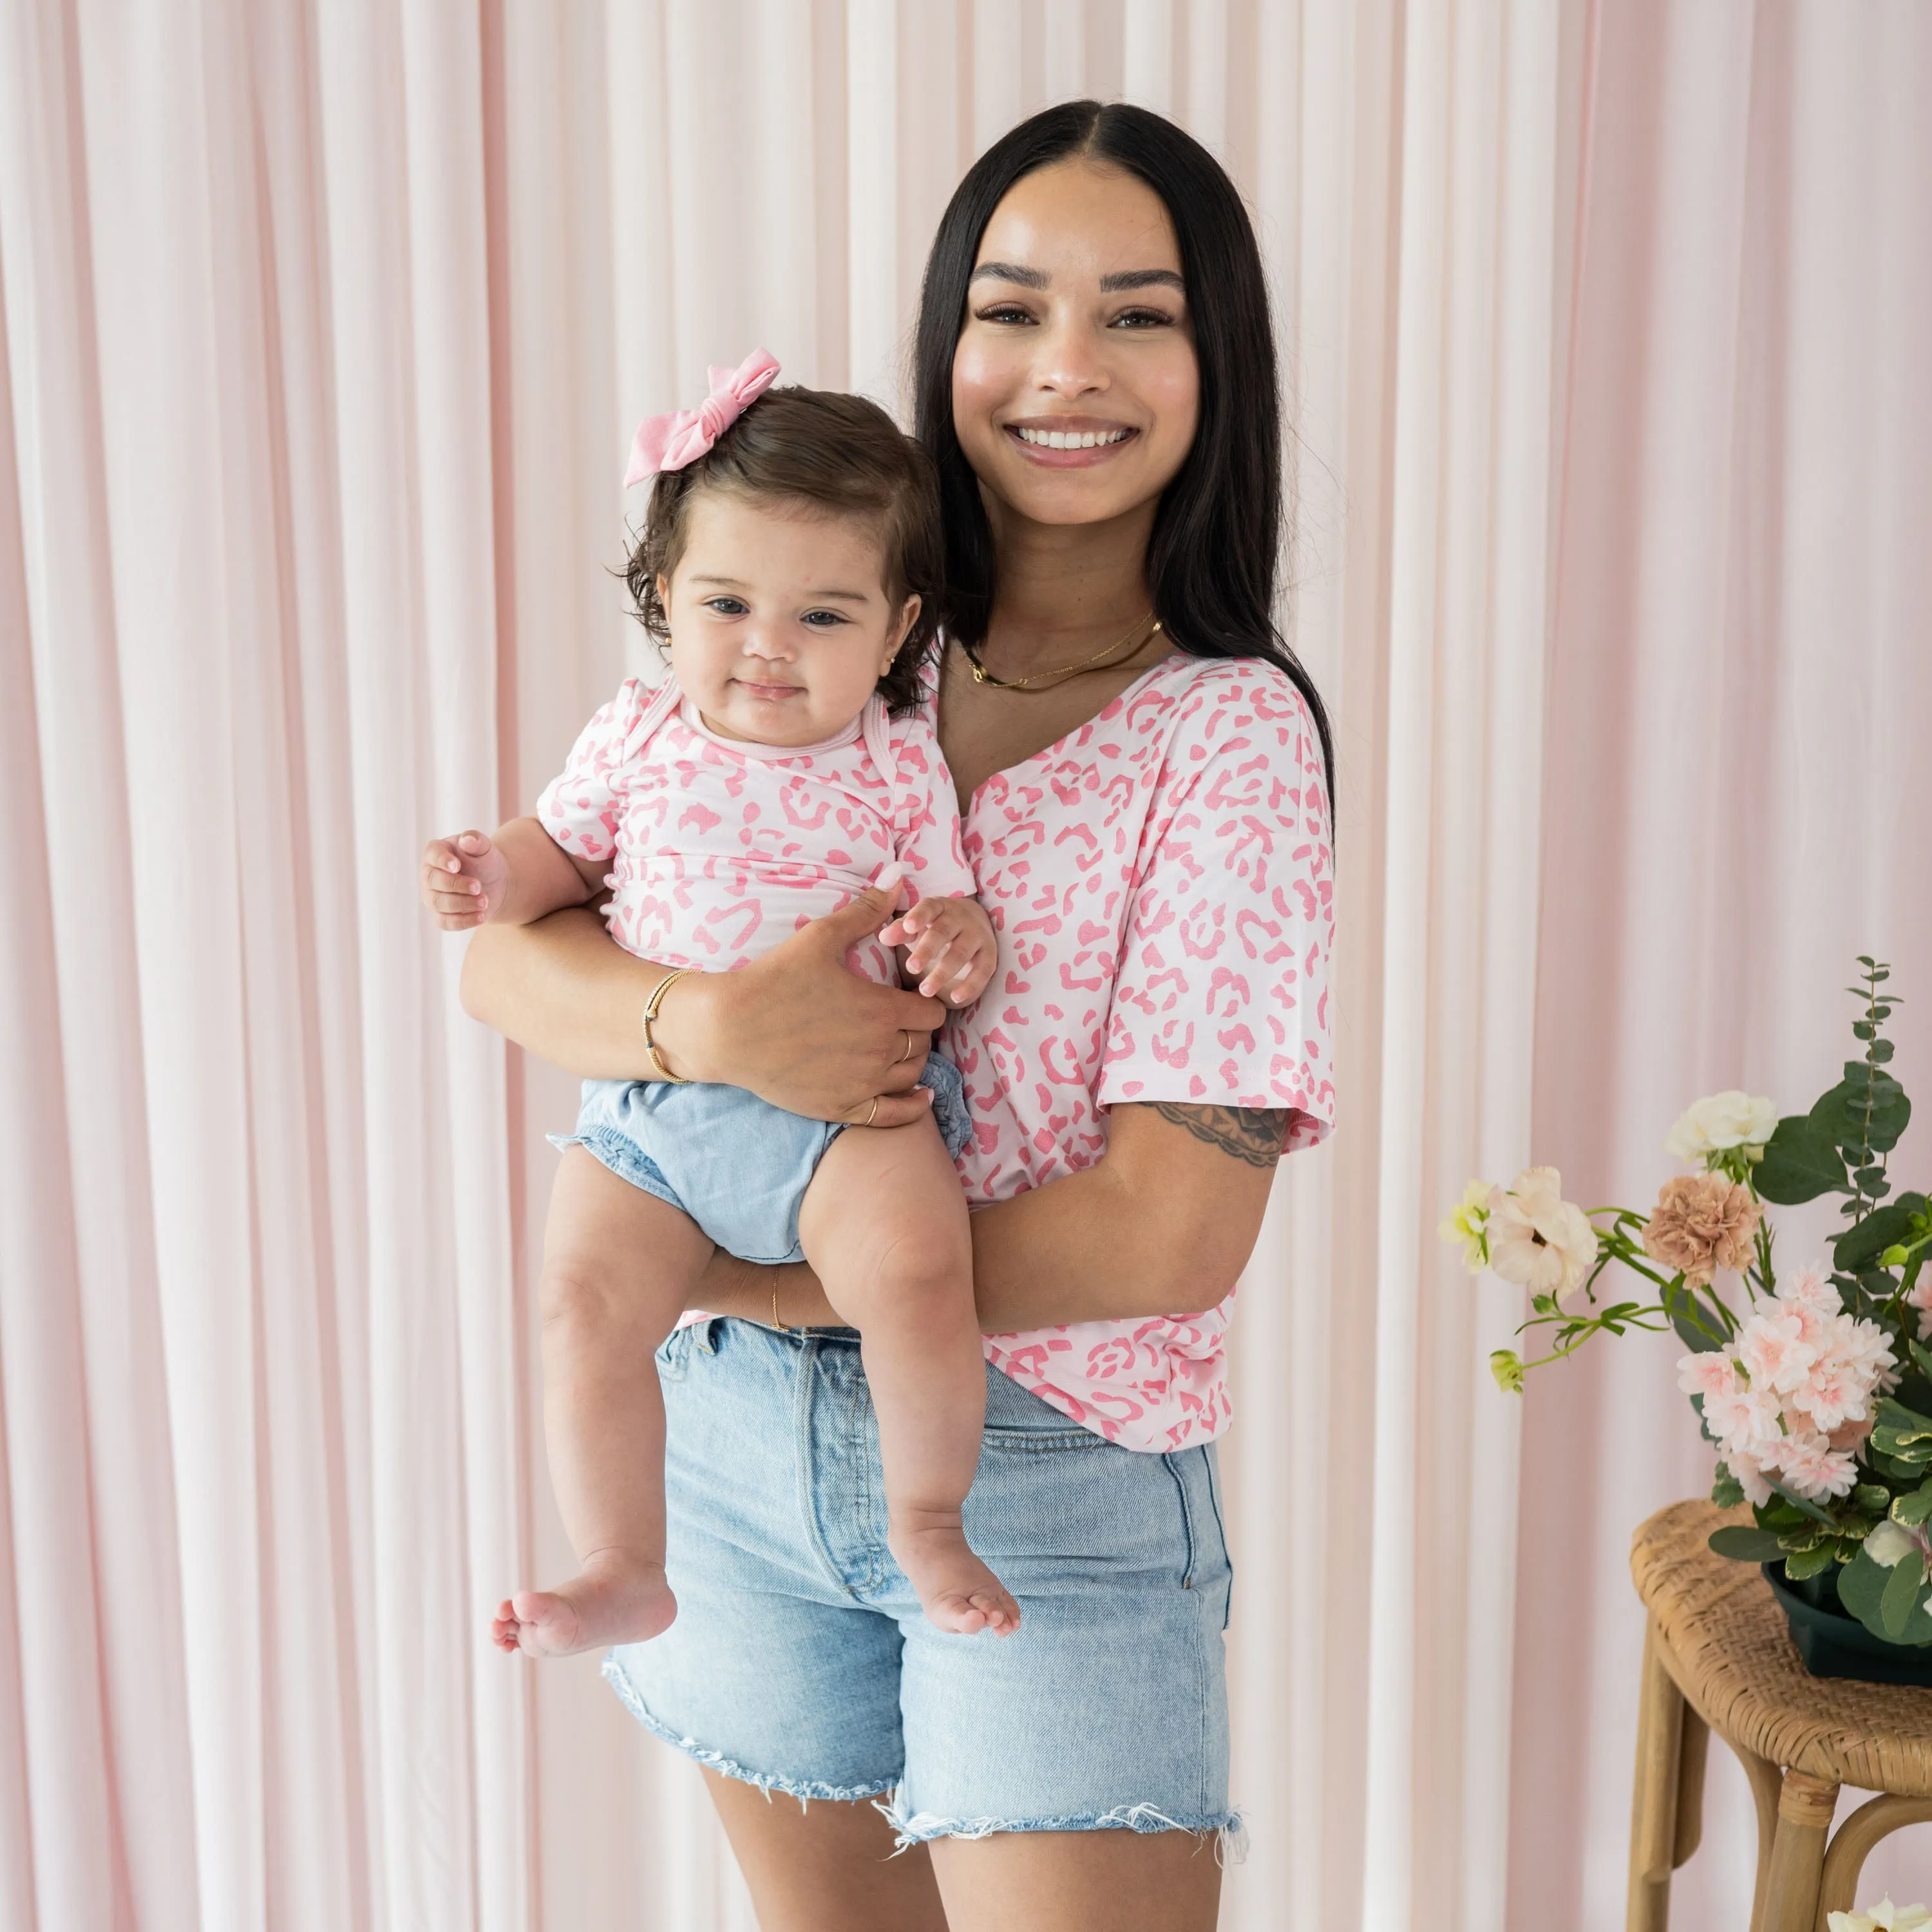
<svg viewBox="0 0 1932 1932">
<path fill-rule="evenodd" d="M 732 491 L 831 516 L 866 516 L 879 531 L 885 595 L 895 612 L 908 597 L 920 614 L 879 680 L 895 717 L 920 707 L 920 668 L 933 647 L 945 593 L 945 535 L 939 471 L 875 402 L 825 388 L 773 388 L 684 469 L 651 485 L 643 531 L 624 564 L 638 622 L 659 641 L 670 620 L 657 580 L 667 583 L 684 554 L 690 504 L 699 491 Z"/>
</svg>

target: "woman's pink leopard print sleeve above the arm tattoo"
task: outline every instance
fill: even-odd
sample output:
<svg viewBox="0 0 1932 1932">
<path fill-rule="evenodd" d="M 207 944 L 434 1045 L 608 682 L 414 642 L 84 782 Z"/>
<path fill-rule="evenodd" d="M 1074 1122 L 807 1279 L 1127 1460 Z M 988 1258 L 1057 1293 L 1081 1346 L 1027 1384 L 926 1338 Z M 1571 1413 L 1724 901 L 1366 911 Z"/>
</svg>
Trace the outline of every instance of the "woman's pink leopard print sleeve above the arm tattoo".
<svg viewBox="0 0 1932 1932">
<path fill-rule="evenodd" d="M 1148 819 L 1097 1099 L 1335 1119 L 1333 852 L 1321 742 L 1300 692 L 1235 661 L 1182 699 Z"/>
</svg>

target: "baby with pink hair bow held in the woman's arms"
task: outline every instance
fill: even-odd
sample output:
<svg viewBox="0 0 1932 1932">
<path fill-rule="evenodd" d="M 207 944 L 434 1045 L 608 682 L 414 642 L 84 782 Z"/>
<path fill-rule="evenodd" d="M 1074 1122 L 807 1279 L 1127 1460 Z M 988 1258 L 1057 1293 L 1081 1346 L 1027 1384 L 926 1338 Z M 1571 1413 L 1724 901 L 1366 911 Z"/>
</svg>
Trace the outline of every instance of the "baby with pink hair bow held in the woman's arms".
<svg viewBox="0 0 1932 1932">
<path fill-rule="evenodd" d="M 931 466 L 875 404 L 765 394 L 777 373 L 763 354 L 713 369 L 701 410 L 638 431 L 626 485 L 657 483 L 628 578 L 668 678 L 624 684 L 535 817 L 423 854 L 423 898 L 446 931 L 524 925 L 609 887 L 612 937 L 667 968 L 645 1007 L 661 1078 L 585 1082 L 560 1142 L 543 1416 L 582 1569 L 502 1605 L 506 1652 L 639 1642 L 676 1615 L 651 1356 L 715 1246 L 810 1262 L 860 1331 L 887 1546 L 925 1615 L 962 1633 L 1020 1621 L 960 1522 L 985 1368 L 951 1159 L 968 1132 L 956 1068 L 927 1057 L 933 1105 L 910 1126 L 838 1126 L 684 1080 L 651 1039 L 682 974 L 744 966 L 867 885 L 904 879 L 916 900 L 896 937 L 923 993 L 978 999 L 997 958 L 952 781 L 916 709 L 941 570 Z M 898 980 L 877 939 L 854 964 Z"/>
</svg>

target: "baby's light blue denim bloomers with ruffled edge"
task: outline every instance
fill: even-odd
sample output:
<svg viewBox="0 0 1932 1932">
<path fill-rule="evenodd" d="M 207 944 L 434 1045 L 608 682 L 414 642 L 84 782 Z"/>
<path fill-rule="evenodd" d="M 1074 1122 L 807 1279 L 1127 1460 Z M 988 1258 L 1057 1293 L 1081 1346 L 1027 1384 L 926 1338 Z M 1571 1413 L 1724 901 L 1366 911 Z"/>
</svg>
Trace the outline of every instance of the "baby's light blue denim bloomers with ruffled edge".
<svg viewBox="0 0 1932 1932">
<path fill-rule="evenodd" d="M 972 1132 L 958 1068 L 927 1053 L 920 1086 L 933 1090 L 933 1119 L 956 1155 Z M 798 1206 L 842 1132 L 837 1121 L 808 1121 L 744 1088 L 585 1080 L 578 1130 L 551 1140 L 595 1153 L 742 1262 L 802 1262 Z"/>
</svg>

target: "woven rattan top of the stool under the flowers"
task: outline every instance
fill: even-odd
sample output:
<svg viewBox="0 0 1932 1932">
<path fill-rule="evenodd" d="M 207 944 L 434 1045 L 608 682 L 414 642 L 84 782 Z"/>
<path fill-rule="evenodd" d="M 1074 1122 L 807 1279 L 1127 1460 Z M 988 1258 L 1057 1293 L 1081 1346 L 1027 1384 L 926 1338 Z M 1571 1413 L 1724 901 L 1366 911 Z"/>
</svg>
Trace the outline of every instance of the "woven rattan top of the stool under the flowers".
<svg viewBox="0 0 1932 1932">
<path fill-rule="evenodd" d="M 1631 1540 L 1636 1594 L 1714 1731 L 1772 1764 L 1861 1791 L 1932 1797 L 1932 1690 L 1812 1677 L 1756 1563 L 1704 1540 L 1748 1509 L 1671 1503 Z"/>
</svg>

